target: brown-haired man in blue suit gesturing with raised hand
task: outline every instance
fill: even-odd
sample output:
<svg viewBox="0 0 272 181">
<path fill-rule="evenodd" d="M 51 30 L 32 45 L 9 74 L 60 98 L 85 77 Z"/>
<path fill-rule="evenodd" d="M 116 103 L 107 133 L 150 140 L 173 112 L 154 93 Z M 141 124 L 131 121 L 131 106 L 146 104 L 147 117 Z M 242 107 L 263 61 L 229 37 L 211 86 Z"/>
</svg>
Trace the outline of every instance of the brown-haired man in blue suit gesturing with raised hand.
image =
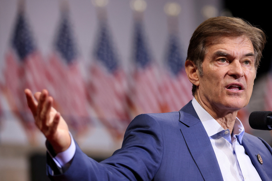
<svg viewBox="0 0 272 181">
<path fill-rule="evenodd" d="M 230 17 L 194 31 L 185 63 L 194 99 L 179 112 L 136 116 L 122 148 L 98 163 L 84 154 L 46 90 L 25 90 L 47 138 L 52 180 L 271 180 L 272 149 L 245 133 L 237 112 L 252 94 L 262 30 Z M 180 94 L 182 96 L 182 92 Z"/>
</svg>

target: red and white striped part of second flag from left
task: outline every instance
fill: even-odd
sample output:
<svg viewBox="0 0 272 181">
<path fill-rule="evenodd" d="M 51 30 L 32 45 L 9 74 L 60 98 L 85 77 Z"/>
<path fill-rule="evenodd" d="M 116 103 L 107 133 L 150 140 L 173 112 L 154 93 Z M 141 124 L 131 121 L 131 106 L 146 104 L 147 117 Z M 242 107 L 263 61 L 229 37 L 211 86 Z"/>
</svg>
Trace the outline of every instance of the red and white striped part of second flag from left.
<svg viewBox="0 0 272 181">
<path fill-rule="evenodd" d="M 49 93 L 55 99 L 55 107 L 76 134 L 90 125 L 90 113 L 86 85 L 79 64 L 66 65 L 57 53 L 49 58 L 47 77 L 51 82 Z"/>
</svg>

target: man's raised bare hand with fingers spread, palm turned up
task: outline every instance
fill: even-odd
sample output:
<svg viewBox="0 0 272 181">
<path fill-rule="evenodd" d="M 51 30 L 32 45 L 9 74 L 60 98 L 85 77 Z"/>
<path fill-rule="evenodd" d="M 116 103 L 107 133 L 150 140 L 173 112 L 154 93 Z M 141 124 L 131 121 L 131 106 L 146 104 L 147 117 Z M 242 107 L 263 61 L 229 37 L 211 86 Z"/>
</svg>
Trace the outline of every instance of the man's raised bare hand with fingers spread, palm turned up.
<svg viewBox="0 0 272 181">
<path fill-rule="evenodd" d="M 25 89 L 27 105 L 30 108 L 35 124 L 53 146 L 55 153 L 65 151 L 71 144 L 71 137 L 65 120 L 53 107 L 53 98 L 47 90 L 32 92 Z"/>
</svg>

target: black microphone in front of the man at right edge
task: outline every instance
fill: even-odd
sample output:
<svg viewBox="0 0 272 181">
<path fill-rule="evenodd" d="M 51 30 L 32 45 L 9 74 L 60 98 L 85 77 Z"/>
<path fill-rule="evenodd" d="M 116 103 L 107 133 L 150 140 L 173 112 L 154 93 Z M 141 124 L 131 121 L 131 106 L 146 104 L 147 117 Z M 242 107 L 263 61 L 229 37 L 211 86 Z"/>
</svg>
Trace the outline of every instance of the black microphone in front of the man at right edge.
<svg viewBox="0 0 272 181">
<path fill-rule="evenodd" d="M 253 111 L 249 115 L 249 125 L 253 129 L 272 130 L 271 111 Z"/>
</svg>

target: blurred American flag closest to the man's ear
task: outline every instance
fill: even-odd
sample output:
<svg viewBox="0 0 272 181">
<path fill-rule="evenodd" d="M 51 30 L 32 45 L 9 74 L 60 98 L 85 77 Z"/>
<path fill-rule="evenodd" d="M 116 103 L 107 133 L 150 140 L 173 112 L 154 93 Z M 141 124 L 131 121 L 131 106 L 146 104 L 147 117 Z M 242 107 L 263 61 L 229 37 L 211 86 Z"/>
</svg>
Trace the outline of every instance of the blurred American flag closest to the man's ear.
<svg viewBox="0 0 272 181">
<path fill-rule="evenodd" d="M 193 98 L 192 83 L 188 80 L 184 63 L 179 38 L 174 33 L 170 34 L 161 87 L 164 112 L 178 111 Z"/>
</svg>

